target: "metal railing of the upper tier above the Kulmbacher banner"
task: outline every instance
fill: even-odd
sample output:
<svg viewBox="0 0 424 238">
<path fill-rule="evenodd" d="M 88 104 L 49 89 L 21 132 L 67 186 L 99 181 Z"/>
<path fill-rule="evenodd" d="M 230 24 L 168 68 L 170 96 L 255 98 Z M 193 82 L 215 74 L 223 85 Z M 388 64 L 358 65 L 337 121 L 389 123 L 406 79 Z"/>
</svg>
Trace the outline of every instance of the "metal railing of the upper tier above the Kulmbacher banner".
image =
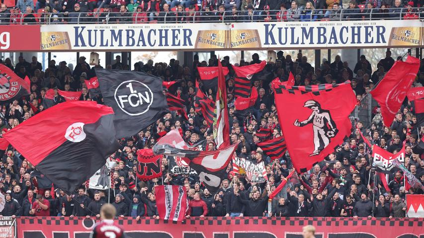
<svg viewBox="0 0 424 238">
<path fill-rule="evenodd" d="M 0 14 L 0 24 L 201 23 L 342 20 L 424 20 L 419 8 L 338 8 L 253 11 L 38 12 Z"/>
</svg>

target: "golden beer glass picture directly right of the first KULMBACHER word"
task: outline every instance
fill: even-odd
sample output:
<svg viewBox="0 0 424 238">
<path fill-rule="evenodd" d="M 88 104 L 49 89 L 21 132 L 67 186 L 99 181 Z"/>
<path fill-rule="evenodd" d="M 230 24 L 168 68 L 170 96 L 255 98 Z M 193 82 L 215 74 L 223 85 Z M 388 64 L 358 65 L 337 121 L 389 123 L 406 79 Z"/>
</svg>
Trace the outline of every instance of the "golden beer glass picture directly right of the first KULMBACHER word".
<svg viewBox="0 0 424 238">
<path fill-rule="evenodd" d="M 196 49 L 227 48 L 227 30 L 204 30 L 197 33 Z"/>
</svg>

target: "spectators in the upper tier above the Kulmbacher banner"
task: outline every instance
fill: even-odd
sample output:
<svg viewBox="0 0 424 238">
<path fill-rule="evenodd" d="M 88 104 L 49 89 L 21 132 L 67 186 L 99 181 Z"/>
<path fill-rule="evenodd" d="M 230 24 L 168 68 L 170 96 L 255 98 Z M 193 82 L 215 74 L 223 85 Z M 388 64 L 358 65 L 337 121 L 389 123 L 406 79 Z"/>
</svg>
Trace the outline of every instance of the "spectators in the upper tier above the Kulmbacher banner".
<svg viewBox="0 0 424 238">
<path fill-rule="evenodd" d="M 0 24 L 422 19 L 423 0 L 11 0 Z M 10 0 L 9 0 L 10 1 Z"/>
</svg>

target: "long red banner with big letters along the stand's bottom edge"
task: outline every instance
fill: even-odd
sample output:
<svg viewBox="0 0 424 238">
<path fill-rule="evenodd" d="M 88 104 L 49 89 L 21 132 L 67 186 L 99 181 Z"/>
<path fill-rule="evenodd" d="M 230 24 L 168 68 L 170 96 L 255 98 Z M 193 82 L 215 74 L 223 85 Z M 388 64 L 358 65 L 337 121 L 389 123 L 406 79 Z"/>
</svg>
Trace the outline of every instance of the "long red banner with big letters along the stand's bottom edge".
<svg viewBox="0 0 424 238">
<path fill-rule="evenodd" d="M 77 217 L 16 219 L 19 238 L 88 238 L 98 221 Z M 316 238 L 420 238 L 424 234 L 422 218 L 196 217 L 171 222 L 124 217 L 115 220 L 129 238 L 301 238 L 302 227 L 306 225 L 315 226 Z"/>
</svg>

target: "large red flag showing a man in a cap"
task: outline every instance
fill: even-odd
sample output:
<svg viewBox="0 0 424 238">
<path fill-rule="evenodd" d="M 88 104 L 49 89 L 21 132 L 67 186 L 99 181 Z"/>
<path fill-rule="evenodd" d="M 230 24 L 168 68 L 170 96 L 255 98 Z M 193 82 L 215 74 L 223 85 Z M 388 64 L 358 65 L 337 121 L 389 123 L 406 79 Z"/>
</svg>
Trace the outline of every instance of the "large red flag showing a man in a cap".
<svg viewBox="0 0 424 238">
<path fill-rule="evenodd" d="M 293 166 L 305 173 L 348 139 L 356 105 L 350 81 L 310 86 L 279 85 L 275 106 Z M 337 100 L 335 100 L 337 99 Z M 288 113 L 289 112 L 289 113 Z"/>
</svg>

